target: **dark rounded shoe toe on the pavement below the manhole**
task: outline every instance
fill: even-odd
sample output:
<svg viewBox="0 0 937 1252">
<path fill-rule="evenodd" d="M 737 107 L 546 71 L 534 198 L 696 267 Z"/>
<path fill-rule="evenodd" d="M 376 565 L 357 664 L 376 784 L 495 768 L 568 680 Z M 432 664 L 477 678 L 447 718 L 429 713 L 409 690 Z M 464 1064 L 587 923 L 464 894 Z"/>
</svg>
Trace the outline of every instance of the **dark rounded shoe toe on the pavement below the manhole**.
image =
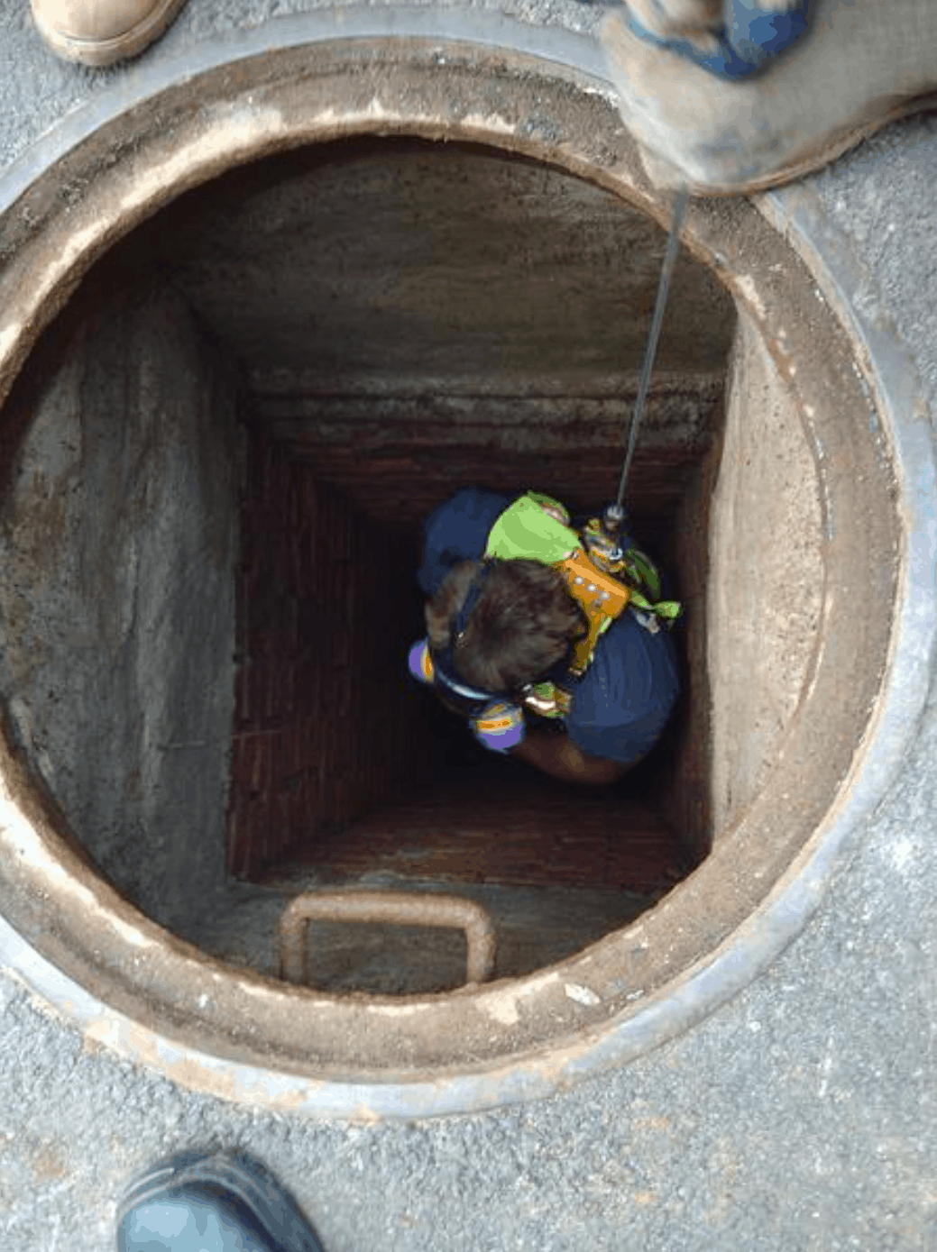
<svg viewBox="0 0 937 1252">
<path fill-rule="evenodd" d="M 296 1201 L 243 1152 L 180 1152 L 118 1206 L 118 1252 L 323 1252 Z"/>
</svg>

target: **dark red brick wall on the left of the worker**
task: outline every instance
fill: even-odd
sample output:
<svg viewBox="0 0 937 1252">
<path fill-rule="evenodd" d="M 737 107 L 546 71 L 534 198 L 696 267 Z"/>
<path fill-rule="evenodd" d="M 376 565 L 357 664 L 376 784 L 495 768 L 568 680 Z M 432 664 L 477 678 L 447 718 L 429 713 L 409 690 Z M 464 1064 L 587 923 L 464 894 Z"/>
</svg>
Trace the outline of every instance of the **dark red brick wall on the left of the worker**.
<svg viewBox="0 0 937 1252">
<path fill-rule="evenodd" d="M 314 468 L 248 431 L 228 809 L 239 878 L 430 769 L 403 679 L 411 560 Z"/>
</svg>

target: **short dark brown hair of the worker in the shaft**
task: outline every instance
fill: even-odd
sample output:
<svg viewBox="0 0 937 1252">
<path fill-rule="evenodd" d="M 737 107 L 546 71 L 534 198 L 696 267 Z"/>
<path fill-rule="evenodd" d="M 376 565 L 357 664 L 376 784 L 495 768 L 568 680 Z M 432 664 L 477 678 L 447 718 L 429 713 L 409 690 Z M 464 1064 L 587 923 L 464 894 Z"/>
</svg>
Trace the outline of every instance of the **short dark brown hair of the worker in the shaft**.
<svg viewBox="0 0 937 1252">
<path fill-rule="evenodd" d="M 479 561 L 462 561 L 446 575 L 426 605 L 431 650 L 443 651 Z M 472 686 L 512 691 L 539 679 L 566 655 L 570 640 L 589 632 L 589 621 L 566 580 L 540 561 L 495 561 L 471 611 L 452 664 Z"/>
</svg>

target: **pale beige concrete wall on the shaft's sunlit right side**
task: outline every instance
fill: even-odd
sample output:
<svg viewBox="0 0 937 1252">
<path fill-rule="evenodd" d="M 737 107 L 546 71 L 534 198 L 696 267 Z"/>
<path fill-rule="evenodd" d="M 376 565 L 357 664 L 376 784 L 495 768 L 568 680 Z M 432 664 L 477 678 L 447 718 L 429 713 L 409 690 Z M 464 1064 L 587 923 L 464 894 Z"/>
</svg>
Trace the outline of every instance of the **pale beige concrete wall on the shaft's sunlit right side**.
<svg viewBox="0 0 937 1252">
<path fill-rule="evenodd" d="M 758 795 L 817 645 L 823 556 L 815 466 L 763 341 L 739 318 L 712 502 L 708 586 L 713 829 Z"/>
</svg>

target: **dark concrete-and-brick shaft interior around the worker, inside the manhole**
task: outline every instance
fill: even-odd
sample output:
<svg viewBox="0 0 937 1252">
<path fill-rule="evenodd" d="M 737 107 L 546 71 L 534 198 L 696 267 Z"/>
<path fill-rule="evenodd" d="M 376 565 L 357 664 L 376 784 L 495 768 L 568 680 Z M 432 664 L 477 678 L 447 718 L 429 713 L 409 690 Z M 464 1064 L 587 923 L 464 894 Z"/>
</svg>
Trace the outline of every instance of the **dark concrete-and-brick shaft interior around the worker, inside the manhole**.
<svg viewBox="0 0 937 1252">
<path fill-rule="evenodd" d="M 664 245 L 549 165 L 361 139 L 234 169 L 93 270 L 9 407 L 3 680 L 34 774 L 143 911 L 276 973 L 303 886 L 457 884 L 496 918 L 497 973 L 524 974 L 704 859 L 772 744 L 764 720 L 742 747 L 712 734 L 713 659 L 723 722 L 745 724 L 752 679 L 708 636 L 727 377 L 742 362 L 745 402 L 779 403 L 704 265 L 678 263 L 630 498 L 688 606 L 655 754 L 600 794 L 564 786 L 476 749 L 405 674 L 436 505 L 614 497 Z M 720 585 L 752 556 L 727 551 Z M 426 989 L 395 957 L 385 984 L 336 962 L 317 985 Z"/>
</svg>

